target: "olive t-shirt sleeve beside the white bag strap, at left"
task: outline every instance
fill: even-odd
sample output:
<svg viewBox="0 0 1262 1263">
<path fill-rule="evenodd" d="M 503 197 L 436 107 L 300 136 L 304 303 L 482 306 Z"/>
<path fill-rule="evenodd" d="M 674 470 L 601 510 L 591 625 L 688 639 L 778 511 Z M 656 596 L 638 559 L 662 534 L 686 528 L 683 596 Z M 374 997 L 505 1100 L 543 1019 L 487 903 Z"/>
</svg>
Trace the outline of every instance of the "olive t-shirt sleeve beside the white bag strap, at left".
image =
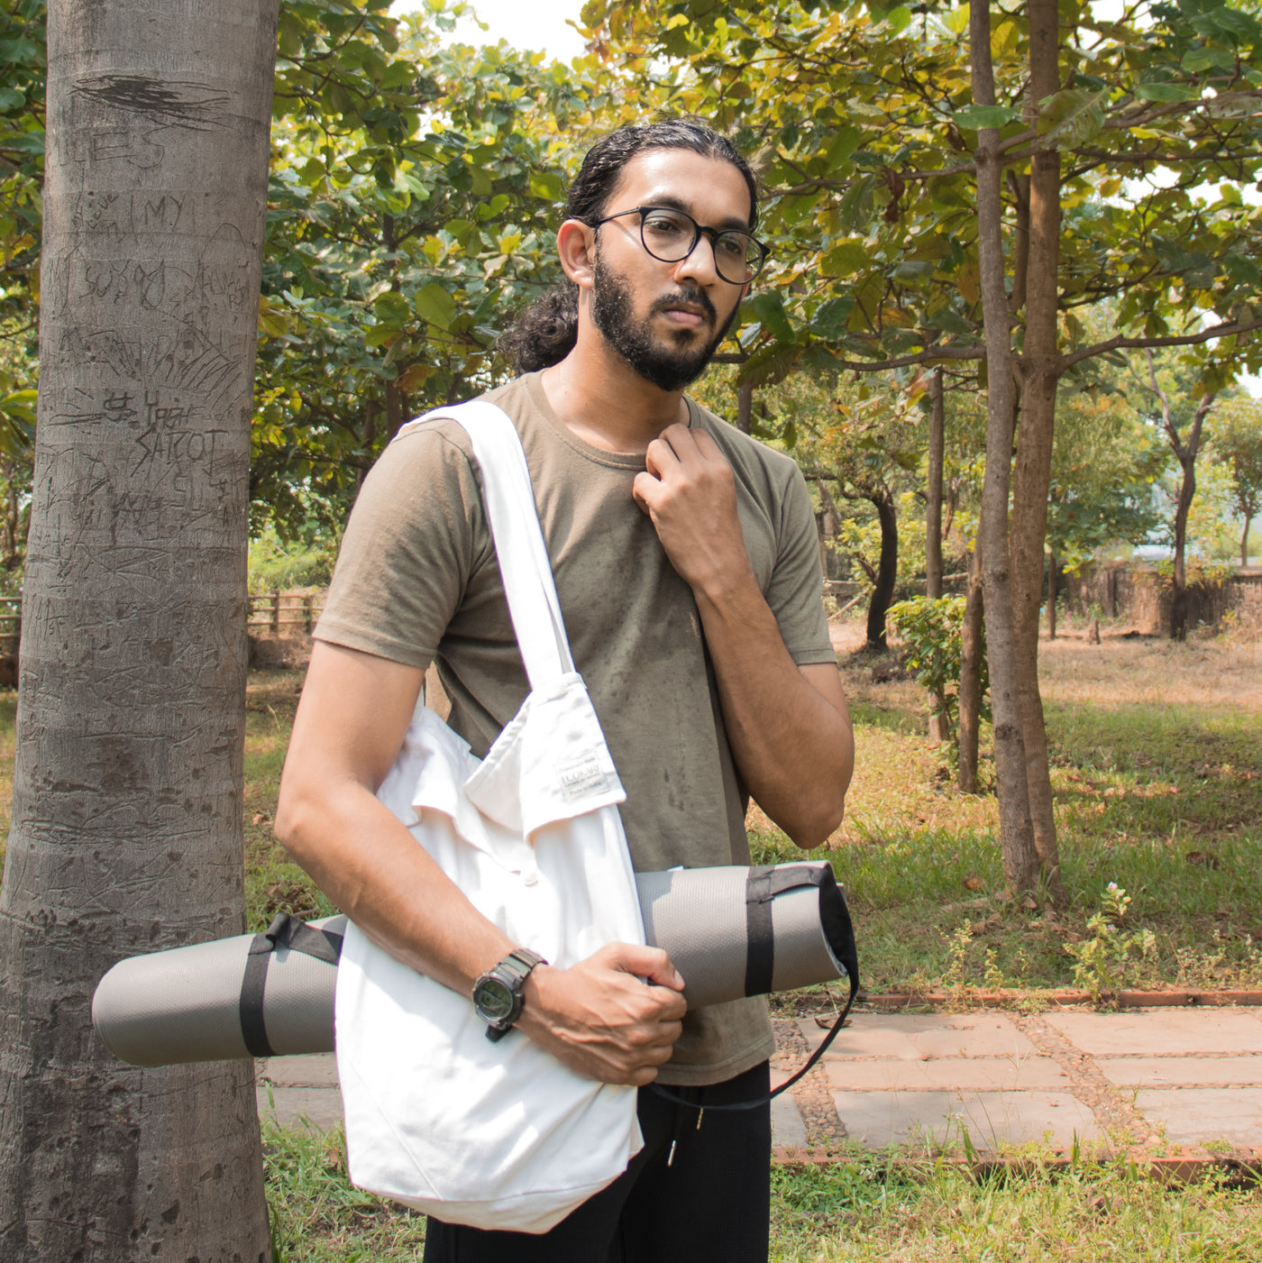
<svg viewBox="0 0 1262 1263">
<path fill-rule="evenodd" d="M 469 456 L 435 424 L 395 440 L 351 512 L 320 640 L 427 667 L 489 541 Z"/>
</svg>

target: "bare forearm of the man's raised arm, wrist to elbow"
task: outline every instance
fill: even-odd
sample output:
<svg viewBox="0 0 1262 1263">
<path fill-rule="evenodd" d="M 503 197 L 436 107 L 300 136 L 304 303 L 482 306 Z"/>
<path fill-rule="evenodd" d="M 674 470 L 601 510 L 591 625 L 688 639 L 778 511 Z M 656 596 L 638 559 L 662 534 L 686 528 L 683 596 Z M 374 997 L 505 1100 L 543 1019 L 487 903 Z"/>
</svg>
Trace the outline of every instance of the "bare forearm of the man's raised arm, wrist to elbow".
<svg viewBox="0 0 1262 1263">
<path fill-rule="evenodd" d="M 798 846 L 817 846 L 841 822 L 854 769 L 836 668 L 793 662 L 752 572 L 695 595 L 736 767 Z"/>
</svg>

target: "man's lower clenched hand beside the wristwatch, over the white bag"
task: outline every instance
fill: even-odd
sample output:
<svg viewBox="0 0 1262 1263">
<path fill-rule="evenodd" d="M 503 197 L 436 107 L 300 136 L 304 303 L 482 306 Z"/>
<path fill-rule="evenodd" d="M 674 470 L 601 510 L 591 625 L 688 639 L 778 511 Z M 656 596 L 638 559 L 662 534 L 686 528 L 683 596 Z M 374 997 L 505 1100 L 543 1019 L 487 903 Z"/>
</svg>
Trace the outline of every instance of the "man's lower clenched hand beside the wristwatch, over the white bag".
<svg viewBox="0 0 1262 1263">
<path fill-rule="evenodd" d="M 536 966 L 517 1024 L 576 1074 L 642 1087 L 682 1033 L 682 989 L 659 947 L 608 943 L 570 969 Z"/>
</svg>

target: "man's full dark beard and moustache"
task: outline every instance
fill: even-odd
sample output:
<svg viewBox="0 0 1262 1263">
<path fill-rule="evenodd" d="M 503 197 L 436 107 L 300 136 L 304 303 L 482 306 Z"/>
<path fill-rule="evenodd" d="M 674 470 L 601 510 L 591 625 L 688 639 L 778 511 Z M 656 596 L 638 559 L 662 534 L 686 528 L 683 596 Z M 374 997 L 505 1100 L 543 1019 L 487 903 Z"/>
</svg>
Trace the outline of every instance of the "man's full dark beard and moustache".
<svg viewBox="0 0 1262 1263">
<path fill-rule="evenodd" d="M 670 338 L 654 335 L 653 317 L 662 311 L 688 303 L 700 307 L 715 330 L 709 342 L 696 346 L 690 336 L 692 330 L 677 330 Z M 592 285 L 591 318 L 605 341 L 635 370 L 646 381 L 659 390 L 682 390 L 705 371 L 714 359 L 714 352 L 728 336 L 731 322 L 736 318 L 740 304 L 731 308 L 731 314 L 716 328 L 719 313 L 702 290 L 683 287 L 673 294 L 658 298 L 642 321 L 632 314 L 633 302 L 630 284 L 627 278 L 613 272 L 600 256 L 596 248 L 595 280 Z"/>
</svg>

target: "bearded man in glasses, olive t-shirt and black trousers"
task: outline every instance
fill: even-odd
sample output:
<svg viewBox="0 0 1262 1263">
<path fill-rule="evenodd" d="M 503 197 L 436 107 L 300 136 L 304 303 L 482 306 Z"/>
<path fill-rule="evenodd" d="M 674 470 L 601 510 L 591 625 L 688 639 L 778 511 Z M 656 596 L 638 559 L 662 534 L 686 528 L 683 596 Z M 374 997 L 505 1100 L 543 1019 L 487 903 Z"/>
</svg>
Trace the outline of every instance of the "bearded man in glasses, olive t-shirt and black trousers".
<svg viewBox="0 0 1262 1263">
<path fill-rule="evenodd" d="M 747 796 L 815 846 L 853 765 L 801 475 L 682 393 L 762 265 L 755 221 L 748 165 L 707 128 L 605 136 L 557 234 L 567 280 L 507 340 L 534 371 L 488 397 L 522 436 L 638 870 L 748 863 Z M 531 945 L 475 912 L 374 797 L 431 659 L 479 755 L 528 691 L 459 427 L 422 427 L 378 462 L 316 637 L 277 832 L 370 936 L 470 995 Z M 543 1236 L 431 1220 L 427 1263 L 766 1259 L 769 1111 L 704 1111 L 766 1095 L 766 1005 L 686 1013 L 681 988 L 664 952 L 627 943 L 528 974 L 509 1037 L 639 1086 L 644 1149 Z"/>
</svg>

